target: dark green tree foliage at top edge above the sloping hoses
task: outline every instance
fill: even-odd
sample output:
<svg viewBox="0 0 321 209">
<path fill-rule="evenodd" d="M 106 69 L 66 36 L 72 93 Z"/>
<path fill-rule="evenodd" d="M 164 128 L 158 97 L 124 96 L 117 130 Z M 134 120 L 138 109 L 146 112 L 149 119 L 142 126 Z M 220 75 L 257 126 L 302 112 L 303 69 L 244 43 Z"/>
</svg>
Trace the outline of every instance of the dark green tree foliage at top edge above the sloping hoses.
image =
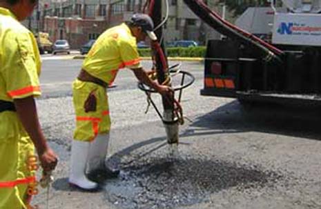
<svg viewBox="0 0 321 209">
<path fill-rule="evenodd" d="M 267 0 L 219 0 L 219 3 L 225 3 L 235 17 L 242 14 L 246 8 L 270 5 Z"/>
</svg>

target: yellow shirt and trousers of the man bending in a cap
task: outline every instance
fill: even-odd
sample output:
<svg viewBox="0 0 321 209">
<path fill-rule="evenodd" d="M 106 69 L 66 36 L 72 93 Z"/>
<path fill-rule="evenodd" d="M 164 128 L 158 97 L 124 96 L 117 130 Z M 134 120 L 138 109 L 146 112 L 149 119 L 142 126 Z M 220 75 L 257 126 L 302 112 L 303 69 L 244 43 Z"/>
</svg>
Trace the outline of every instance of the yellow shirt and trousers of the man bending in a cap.
<svg viewBox="0 0 321 209">
<path fill-rule="evenodd" d="M 113 83 L 121 68 L 141 68 L 136 38 L 125 23 L 106 30 L 99 36 L 88 52 L 82 69 L 93 77 Z M 90 92 L 97 97 L 97 110 L 85 112 L 84 103 Z M 73 102 L 76 112 L 74 139 L 92 141 L 98 134 L 109 132 L 110 116 L 106 89 L 95 83 L 78 79 L 72 84 Z"/>
</svg>

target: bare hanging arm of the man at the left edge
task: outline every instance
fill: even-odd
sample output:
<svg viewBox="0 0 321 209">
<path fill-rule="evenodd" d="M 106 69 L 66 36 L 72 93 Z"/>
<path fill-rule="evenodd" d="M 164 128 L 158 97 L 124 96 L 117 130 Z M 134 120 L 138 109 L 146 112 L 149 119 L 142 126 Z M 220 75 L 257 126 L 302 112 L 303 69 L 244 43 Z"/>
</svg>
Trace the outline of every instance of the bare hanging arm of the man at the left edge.
<svg viewBox="0 0 321 209">
<path fill-rule="evenodd" d="M 35 144 L 43 170 L 54 170 L 57 165 L 57 155 L 49 148 L 41 131 L 35 99 L 31 96 L 23 99 L 14 99 L 13 102 L 23 128 L 25 128 Z"/>
</svg>

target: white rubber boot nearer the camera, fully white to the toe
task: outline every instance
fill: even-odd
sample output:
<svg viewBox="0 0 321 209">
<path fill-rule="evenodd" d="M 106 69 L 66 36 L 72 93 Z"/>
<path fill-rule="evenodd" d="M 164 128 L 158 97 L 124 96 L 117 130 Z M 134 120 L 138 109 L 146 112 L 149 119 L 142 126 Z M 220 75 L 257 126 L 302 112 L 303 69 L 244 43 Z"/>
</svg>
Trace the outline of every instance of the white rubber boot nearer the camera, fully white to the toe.
<svg viewBox="0 0 321 209">
<path fill-rule="evenodd" d="M 98 184 L 86 177 L 90 142 L 72 140 L 69 183 L 84 190 L 96 190 Z"/>
</svg>

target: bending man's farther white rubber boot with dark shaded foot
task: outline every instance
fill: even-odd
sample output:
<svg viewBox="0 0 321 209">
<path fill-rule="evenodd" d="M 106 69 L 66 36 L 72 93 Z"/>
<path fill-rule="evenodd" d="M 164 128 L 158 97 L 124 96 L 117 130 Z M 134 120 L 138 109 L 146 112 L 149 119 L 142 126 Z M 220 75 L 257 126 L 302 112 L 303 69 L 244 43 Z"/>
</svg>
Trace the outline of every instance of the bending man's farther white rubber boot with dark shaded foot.
<svg viewBox="0 0 321 209">
<path fill-rule="evenodd" d="M 108 168 L 106 166 L 109 138 L 109 134 L 99 134 L 91 142 L 87 165 L 87 173 L 90 176 L 117 177 L 119 175 L 117 168 Z"/>
</svg>

